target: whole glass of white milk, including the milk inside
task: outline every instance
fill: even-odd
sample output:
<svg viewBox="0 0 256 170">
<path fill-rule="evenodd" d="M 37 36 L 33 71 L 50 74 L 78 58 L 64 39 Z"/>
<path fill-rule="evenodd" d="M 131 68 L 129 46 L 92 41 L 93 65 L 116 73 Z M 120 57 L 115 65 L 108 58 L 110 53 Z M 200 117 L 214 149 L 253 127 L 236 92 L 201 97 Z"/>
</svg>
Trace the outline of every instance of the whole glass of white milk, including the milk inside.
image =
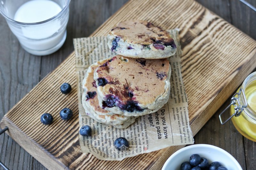
<svg viewBox="0 0 256 170">
<path fill-rule="evenodd" d="M 0 0 L 0 13 L 21 46 L 48 55 L 65 42 L 70 0 Z"/>
</svg>

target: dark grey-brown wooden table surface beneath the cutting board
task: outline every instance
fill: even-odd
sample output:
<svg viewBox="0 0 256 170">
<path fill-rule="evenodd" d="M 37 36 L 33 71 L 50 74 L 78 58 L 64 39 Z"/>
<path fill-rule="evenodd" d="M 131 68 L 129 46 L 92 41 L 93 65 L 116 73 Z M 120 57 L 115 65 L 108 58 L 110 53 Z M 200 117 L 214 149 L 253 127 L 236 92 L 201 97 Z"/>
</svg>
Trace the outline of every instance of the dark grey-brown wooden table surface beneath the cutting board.
<svg viewBox="0 0 256 170">
<path fill-rule="evenodd" d="M 239 0 L 197 1 L 256 39 L 256 12 Z M 247 1 L 256 7 L 255 0 Z M 125 2 L 127 0 L 71 1 L 67 39 L 60 50 L 47 56 L 34 56 L 24 51 L 0 16 L 0 119 L 74 50 L 73 38 L 89 36 Z M 219 113 L 229 102 L 226 101 L 196 134 L 195 144 L 218 146 L 233 155 L 243 169 L 255 169 L 256 143 L 243 137 L 231 121 L 220 125 Z M 6 134 L 0 136 L 0 160 L 10 169 L 45 169 Z"/>
</svg>

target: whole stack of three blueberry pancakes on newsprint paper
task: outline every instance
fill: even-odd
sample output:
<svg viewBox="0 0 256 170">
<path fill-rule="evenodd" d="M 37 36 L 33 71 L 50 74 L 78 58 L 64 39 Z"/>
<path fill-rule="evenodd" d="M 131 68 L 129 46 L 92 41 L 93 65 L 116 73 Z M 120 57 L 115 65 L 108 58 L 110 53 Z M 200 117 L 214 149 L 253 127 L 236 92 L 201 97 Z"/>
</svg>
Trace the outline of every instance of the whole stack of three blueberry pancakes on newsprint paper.
<svg viewBox="0 0 256 170">
<path fill-rule="evenodd" d="M 176 45 L 169 32 L 133 20 L 111 29 L 108 47 L 117 55 L 88 68 L 82 103 L 92 119 L 123 129 L 169 100 L 171 66 L 167 58 L 175 54 Z"/>
</svg>

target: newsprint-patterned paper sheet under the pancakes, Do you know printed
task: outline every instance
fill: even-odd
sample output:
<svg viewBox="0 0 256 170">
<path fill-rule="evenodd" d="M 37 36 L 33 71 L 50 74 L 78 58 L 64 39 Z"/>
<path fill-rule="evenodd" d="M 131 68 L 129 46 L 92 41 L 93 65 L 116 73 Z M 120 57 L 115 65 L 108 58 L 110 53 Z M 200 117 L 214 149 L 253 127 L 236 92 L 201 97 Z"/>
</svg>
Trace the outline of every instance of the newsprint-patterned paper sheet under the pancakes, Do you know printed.
<svg viewBox="0 0 256 170">
<path fill-rule="evenodd" d="M 173 145 L 193 144 L 194 139 L 188 120 L 188 99 L 181 76 L 181 47 L 177 30 L 169 30 L 177 45 L 177 52 L 169 58 L 171 75 L 171 93 L 169 101 L 155 113 L 139 116 L 126 129 L 114 128 L 96 122 L 88 115 L 82 105 L 82 82 L 87 68 L 100 59 L 116 54 L 107 45 L 107 37 L 88 37 L 74 39 L 76 54 L 76 78 L 79 107 L 79 125 L 89 125 L 92 136 L 81 136 L 79 142 L 81 152 L 92 153 L 102 160 L 122 160 L 141 153 L 153 152 Z M 118 151 L 114 141 L 125 137 L 129 148 Z"/>
</svg>

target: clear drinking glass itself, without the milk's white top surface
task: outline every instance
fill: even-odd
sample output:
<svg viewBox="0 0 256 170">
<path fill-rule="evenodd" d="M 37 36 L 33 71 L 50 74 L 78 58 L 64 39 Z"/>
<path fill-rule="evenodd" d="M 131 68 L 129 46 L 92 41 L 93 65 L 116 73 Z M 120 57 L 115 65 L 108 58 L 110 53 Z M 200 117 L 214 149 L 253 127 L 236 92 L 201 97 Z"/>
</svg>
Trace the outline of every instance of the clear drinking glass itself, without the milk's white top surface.
<svg viewBox="0 0 256 170">
<path fill-rule="evenodd" d="M 16 11 L 28 1 L 0 0 L 0 13 L 27 52 L 34 55 L 48 55 L 57 51 L 66 40 L 70 0 L 52 0 L 60 5 L 61 11 L 47 20 L 35 23 L 15 21 Z"/>
</svg>

